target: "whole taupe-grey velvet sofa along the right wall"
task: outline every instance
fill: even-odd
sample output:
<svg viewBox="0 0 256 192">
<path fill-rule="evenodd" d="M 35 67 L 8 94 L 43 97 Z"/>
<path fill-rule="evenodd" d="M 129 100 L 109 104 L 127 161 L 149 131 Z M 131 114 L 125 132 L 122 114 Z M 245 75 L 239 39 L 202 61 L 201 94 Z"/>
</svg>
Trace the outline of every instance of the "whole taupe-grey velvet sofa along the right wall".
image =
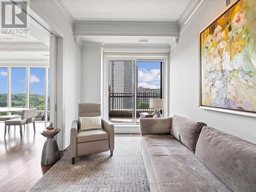
<svg viewBox="0 0 256 192">
<path fill-rule="evenodd" d="M 152 192 L 256 191 L 256 145 L 179 116 L 140 126 Z"/>
</svg>

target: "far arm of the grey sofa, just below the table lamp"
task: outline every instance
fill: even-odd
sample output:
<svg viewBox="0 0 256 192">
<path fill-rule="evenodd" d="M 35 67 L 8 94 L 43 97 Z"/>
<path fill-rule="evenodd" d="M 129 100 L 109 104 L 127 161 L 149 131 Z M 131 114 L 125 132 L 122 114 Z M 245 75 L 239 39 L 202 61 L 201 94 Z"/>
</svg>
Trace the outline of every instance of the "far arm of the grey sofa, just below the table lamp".
<svg viewBox="0 0 256 192">
<path fill-rule="evenodd" d="M 172 117 L 169 118 L 140 118 L 140 133 L 147 134 L 168 134 L 172 126 Z"/>
</svg>

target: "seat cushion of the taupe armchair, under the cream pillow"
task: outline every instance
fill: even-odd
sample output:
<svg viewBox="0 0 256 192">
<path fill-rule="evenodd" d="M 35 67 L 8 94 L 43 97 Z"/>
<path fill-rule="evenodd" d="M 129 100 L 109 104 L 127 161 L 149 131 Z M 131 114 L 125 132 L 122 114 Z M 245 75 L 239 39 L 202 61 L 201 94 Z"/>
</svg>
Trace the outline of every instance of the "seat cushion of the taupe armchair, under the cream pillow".
<svg viewBox="0 0 256 192">
<path fill-rule="evenodd" d="M 77 133 L 77 142 L 89 142 L 89 141 L 98 141 L 109 139 L 109 133 L 105 130 L 89 130 L 89 131 L 82 131 Z"/>
</svg>

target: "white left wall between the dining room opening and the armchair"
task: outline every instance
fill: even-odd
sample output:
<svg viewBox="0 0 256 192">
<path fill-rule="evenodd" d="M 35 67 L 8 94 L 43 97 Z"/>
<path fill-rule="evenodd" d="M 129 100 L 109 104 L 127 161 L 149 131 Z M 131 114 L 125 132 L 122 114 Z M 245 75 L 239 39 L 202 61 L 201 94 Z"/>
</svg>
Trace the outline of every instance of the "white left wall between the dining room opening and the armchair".
<svg viewBox="0 0 256 192">
<path fill-rule="evenodd" d="M 73 37 L 72 20 L 65 12 L 65 9 L 61 9 L 58 1 L 52 0 L 31 0 L 31 9 L 39 15 L 39 22 L 44 24 L 45 27 L 50 29 L 56 36 L 63 37 L 63 111 L 62 114 L 57 114 L 58 119 L 63 119 L 61 127 L 58 127 L 63 131 L 57 135 L 57 141 L 59 136 L 63 136 L 62 144 L 59 146 L 60 150 L 69 145 L 70 141 L 70 129 L 71 123 L 78 117 L 78 103 L 80 102 L 80 64 L 81 64 L 81 50 L 75 44 Z M 32 14 L 32 12 L 31 12 Z M 33 15 L 34 16 L 34 15 Z M 58 49 L 62 49 L 58 47 Z M 58 80 L 61 80 L 57 78 Z M 57 98 L 58 100 L 58 98 Z M 57 106 L 58 108 L 58 106 Z M 59 144 L 59 142 L 58 142 Z"/>
</svg>

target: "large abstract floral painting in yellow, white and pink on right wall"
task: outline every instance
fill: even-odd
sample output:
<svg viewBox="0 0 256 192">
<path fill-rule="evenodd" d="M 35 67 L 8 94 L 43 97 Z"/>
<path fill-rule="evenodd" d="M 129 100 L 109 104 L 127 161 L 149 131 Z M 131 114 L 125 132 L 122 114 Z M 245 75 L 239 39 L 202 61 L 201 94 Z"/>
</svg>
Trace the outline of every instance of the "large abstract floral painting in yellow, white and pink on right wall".
<svg viewBox="0 0 256 192">
<path fill-rule="evenodd" d="M 199 33 L 203 108 L 256 115 L 255 12 L 254 0 L 234 1 Z"/>
</svg>

